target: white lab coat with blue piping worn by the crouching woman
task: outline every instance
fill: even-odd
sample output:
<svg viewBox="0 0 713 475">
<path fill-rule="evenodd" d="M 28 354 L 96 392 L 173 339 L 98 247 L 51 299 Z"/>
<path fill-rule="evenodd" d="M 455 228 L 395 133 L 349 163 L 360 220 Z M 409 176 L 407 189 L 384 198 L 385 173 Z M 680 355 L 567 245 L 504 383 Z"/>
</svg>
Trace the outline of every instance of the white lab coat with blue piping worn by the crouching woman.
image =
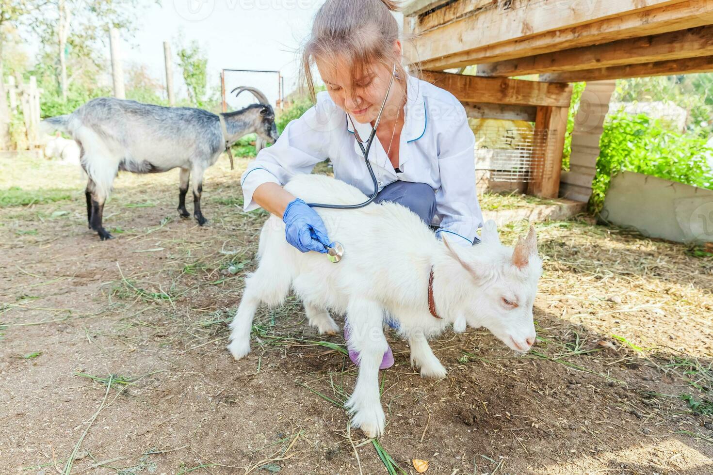
<svg viewBox="0 0 713 475">
<path fill-rule="evenodd" d="M 369 151 L 369 161 L 381 188 L 397 179 L 426 183 L 436 193 L 436 216 L 431 224 L 438 233 L 459 236 L 473 242 L 483 216 L 476 193 L 475 136 L 468 126 L 463 105 L 448 91 L 408 75 L 404 129 L 399 146 L 396 173 L 379 139 Z M 298 173 L 309 173 L 314 165 L 329 158 L 334 177 L 354 185 L 371 196 L 374 185 L 364 164 L 364 155 L 354 137 L 352 122 L 361 140 L 371 132 L 339 108 L 327 91 L 317 93 L 317 104 L 302 117 L 290 121 L 277 142 L 260 150 L 240 178 L 245 204 L 250 211 L 259 207 L 252 200 L 255 189 L 265 182 L 284 185 Z M 366 143 L 364 143 L 366 147 Z M 456 241 L 467 245 L 466 241 Z"/>
</svg>

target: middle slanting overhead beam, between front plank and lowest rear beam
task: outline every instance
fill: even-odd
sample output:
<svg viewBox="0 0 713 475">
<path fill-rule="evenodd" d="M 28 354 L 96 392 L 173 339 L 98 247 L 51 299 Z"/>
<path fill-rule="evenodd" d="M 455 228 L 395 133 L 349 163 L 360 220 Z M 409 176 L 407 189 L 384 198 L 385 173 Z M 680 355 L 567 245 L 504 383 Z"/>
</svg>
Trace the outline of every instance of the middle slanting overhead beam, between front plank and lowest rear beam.
<svg viewBox="0 0 713 475">
<path fill-rule="evenodd" d="M 713 55 L 713 25 L 479 64 L 478 75 L 507 78 L 710 55 Z"/>
</svg>

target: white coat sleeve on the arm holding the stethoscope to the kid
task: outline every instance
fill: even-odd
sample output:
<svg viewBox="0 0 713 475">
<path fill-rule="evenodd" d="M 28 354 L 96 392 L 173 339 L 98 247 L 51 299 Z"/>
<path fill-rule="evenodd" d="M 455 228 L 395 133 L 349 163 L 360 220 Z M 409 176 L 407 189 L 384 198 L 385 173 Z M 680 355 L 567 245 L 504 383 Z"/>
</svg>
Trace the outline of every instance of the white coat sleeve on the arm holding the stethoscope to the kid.
<svg viewBox="0 0 713 475">
<path fill-rule="evenodd" d="M 258 152 L 240 177 L 243 210 L 260 207 L 253 199 L 255 189 L 263 183 L 284 185 L 299 173 L 312 172 L 314 165 L 327 160 L 332 131 L 341 125 L 338 110 L 331 100 L 317 95 L 317 104 L 302 116 L 291 120 L 270 147 Z"/>
</svg>

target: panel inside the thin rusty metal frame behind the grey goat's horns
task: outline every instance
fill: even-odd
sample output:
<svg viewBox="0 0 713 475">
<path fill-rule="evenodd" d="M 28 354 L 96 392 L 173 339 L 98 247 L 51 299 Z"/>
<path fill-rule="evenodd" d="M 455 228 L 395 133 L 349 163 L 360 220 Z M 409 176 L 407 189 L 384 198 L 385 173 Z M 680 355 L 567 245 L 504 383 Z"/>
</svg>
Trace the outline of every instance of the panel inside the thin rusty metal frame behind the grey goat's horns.
<svg viewBox="0 0 713 475">
<path fill-rule="evenodd" d="M 279 71 L 260 71 L 260 70 L 242 70 L 242 69 L 224 69 L 222 71 L 222 80 L 224 83 L 225 109 L 237 110 L 245 108 L 247 105 L 257 103 L 257 99 L 249 92 L 240 93 L 236 98 L 235 94 L 230 91 L 241 86 L 247 85 L 257 90 L 260 90 L 273 108 L 279 106 L 279 100 L 282 100 L 282 77 Z"/>
</svg>

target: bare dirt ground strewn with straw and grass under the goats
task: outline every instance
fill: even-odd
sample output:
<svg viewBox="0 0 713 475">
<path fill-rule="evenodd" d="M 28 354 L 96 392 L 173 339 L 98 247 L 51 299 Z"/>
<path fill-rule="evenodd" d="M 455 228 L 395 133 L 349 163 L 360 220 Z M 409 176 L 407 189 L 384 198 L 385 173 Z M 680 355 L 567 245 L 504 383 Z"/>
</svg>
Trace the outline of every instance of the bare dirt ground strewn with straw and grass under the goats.
<svg viewBox="0 0 713 475">
<path fill-rule="evenodd" d="M 101 242 L 77 169 L 0 162 L 0 474 L 713 473 L 711 257 L 538 224 L 533 351 L 448 332 L 432 342 L 448 376 L 424 380 L 387 335 L 371 441 L 342 409 L 344 338 L 294 298 L 259 311 L 248 357 L 225 350 L 266 216 L 240 209 L 246 163 L 208 170 L 202 228 L 175 211 L 177 172 L 120 175 Z"/>
</svg>

